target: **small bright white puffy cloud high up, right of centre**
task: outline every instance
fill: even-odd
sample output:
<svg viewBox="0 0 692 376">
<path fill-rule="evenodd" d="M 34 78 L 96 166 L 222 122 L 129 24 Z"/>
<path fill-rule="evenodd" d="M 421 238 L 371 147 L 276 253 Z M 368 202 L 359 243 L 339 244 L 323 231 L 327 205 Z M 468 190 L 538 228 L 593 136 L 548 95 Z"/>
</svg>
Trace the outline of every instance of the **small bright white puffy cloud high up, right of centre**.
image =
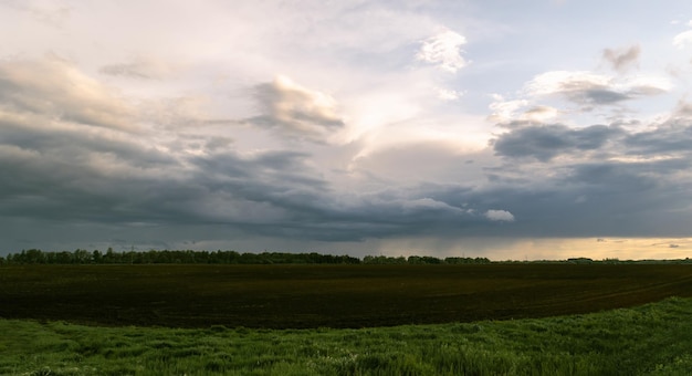
<svg viewBox="0 0 692 376">
<path fill-rule="evenodd" d="M 437 64 L 444 71 L 455 73 L 468 64 L 461 55 L 461 46 L 464 44 L 466 44 L 466 39 L 463 35 L 447 30 L 427 39 L 416 56 L 424 62 Z"/>
</svg>

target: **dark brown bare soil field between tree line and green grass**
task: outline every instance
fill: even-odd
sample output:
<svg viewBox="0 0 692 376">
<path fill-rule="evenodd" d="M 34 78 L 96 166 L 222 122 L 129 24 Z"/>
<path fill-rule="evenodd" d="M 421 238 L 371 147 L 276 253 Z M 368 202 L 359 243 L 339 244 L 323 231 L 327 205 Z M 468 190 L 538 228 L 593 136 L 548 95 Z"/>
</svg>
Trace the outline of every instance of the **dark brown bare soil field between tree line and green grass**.
<svg viewBox="0 0 692 376">
<path fill-rule="evenodd" d="M 0 317 L 113 326 L 390 326 L 587 313 L 668 296 L 692 296 L 692 265 L 0 268 Z"/>
</svg>

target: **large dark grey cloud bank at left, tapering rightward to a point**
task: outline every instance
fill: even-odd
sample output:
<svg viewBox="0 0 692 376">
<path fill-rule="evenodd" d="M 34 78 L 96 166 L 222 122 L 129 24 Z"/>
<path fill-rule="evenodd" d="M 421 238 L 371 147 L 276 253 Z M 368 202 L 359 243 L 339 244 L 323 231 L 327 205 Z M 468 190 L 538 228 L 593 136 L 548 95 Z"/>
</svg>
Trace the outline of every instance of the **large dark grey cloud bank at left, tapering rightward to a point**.
<svg viewBox="0 0 692 376">
<path fill-rule="evenodd" d="M 25 122 L 19 116 L 25 109 L 0 119 L 4 218 L 60 222 L 65 229 L 70 223 L 74 229 L 123 226 L 133 233 L 207 223 L 331 241 L 487 221 L 483 211 L 473 215 L 427 198 L 424 189 L 338 194 L 312 166 L 314 157 L 303 152 L 240 154 L 228 142 L 205 148 L 213 139 L 198 135 L 192 138 L 202 154 L 171 154 L 127 134 L 60 121 L 48 124 L 42 117 Z"/>
</svg>

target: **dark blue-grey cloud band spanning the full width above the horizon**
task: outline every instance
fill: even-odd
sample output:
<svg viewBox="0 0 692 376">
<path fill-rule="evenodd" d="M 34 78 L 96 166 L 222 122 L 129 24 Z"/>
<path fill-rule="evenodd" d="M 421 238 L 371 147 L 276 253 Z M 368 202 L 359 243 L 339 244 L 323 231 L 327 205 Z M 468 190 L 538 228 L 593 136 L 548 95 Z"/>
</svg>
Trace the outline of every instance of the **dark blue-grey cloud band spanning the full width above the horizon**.
<svg viewBox="0 0 692 376">
<path fill-rule="evenodd" d="M 2 129 L 0 136 L 11 135 Z M 117 228 L 125 243 L 139 247 L 228 237 L 357 242 L 402 236 L 680 236 L 692 220 L 678 210 L 692 199 L 684 188 L 690 159 L 656 159 L 661 144 L 637 152 L 648 159 L 618 161 L 631 157 L 635 145 L 680 137 L 663 125 L 641 134 L 606 126 L 517 128 L 495 143 L 506 164 L 486 170 L 496 179 L 485 185 L 421 182 L 350 192 L 322 177 L 305 152 L 243 155 L 227 146 L 199 156 L 157 156 L 128 139 L 106 153 L 111 163 L 127 167 L 119 175 L 78 158 L 51 158 L 69 149 L 95 154 L 105 139 L 70 135 L 28 143 L 49 135 L 0 137 L 7 177 L 0 184 L 1 219 L 40 218 L 53 223 L 50 229 L 82 226 L 102 236 Z M 139 165 L 147 155 L 149 165 Z M 562 155 L 576 159 L 562 161 Z M 610 159 L 600 159 L 606 155 Z M 46 236 L 62 239 L 57 232 Z M 17 237 L 18 244 L 31 238 Z"/>
</svg>

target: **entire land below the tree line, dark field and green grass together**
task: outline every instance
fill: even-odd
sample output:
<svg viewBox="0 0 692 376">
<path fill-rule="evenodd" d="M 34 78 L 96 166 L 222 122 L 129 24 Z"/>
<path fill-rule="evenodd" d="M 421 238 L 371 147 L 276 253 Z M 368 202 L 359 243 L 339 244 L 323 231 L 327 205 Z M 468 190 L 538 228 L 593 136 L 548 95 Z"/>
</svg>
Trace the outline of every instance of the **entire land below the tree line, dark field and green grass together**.
<svg viewBox="0 0 692 376">
<path fill-rule="evenodd" d="M 6 265 L 0 286 L 0 375 L 692 374 L 684 264 Z"/>
</svg>

